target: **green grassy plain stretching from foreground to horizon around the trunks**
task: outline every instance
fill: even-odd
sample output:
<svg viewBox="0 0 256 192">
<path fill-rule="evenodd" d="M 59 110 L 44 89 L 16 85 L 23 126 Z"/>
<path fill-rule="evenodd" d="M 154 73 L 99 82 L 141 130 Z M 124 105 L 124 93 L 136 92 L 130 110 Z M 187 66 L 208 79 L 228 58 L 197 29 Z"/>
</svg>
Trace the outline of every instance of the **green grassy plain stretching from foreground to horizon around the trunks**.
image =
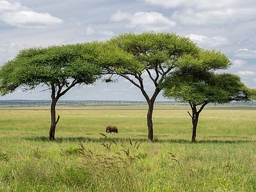
<svg viewBox="0 0 256 192">
<path fill-rule="evenodd" d="M 48 104 L 0 108 L 0 191 L 256 191 L 256 107 L 208 106 L 191 143 L 186 105 Z M 116 125 L 118 134 L 107 134 Z"/>
</svg>

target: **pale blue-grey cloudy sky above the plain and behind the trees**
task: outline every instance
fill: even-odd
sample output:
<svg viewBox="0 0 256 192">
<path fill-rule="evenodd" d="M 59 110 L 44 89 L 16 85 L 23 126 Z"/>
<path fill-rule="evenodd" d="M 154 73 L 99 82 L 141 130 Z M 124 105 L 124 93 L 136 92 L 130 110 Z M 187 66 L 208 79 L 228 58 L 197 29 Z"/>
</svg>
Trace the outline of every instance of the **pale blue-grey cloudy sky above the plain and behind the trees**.
<svg viewBox="0 0 256 192">
<path fill-rule="evenodd" d="M 233 65 L 226 72 L 256 88 L 255 0 L 0 0 L 0 65 L 28 47 L 108 40 L 120 33 L 173 32 L 203 49 L 220 50 Z M 149 95 L 154 86 L 145 77 Z M 39 86 L 0 97 L 50 100 Z M 76 86 L 61 100 L 138 100 L 140 90 L 121 77 Z M 158 101 L 165 100 L 161 94 Z"/>
</svg>

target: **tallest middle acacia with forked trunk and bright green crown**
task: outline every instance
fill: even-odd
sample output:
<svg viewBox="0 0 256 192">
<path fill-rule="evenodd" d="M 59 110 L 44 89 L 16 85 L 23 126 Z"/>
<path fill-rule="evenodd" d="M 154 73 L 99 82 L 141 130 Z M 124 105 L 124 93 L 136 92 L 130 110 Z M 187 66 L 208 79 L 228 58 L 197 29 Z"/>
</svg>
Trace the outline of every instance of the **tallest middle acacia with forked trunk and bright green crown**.
<svg viewBox="0 0 256 192">
<path fill-rule="evenodd" d="M 127 52 L 132 54 L 134 61 L 139 62 L 139 68 L 130 67 L 120 63 L 108 63 L 109 73 L 124 77 L 134 86 L 140 89 L 147 100 L 147 126 L 148 141 L 153 140 L 152 114 L 154 102 L 161 92 L 161 83 L 164 82 L 167 74 L 179 68 L 179 59 L 184 54 L 198 54 L 200 50 L 189 38 L 185 38 L 175 33 L 154 33 L 145 32 L 139 35 L 134 33 L 124 33 L 109 40 Z M 137 63 L 138 64 L 138 63 Z M 145 82 L 145 77 L 149 77 L 151 84 Z M 147 87 L 148 86 L 148 87 Z M 154 87 L 154 90 L 151 89 Z M 152 92 L 152 95 L 150 93 Z"/>
</svg>

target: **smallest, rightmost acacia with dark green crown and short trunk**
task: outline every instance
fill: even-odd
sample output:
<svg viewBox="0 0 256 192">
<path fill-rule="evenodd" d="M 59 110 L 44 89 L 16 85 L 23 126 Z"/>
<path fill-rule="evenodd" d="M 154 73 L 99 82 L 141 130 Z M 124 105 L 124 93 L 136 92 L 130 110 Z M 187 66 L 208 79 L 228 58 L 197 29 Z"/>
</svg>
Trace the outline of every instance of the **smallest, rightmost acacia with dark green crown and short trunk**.
<svg viewBox="0 0 256 192">
<path fill-rule="evenodd" d="M 169 99 L 188 102 L 191 107 L 193 131 L 191 141 L 196 141 L 198 118 L 209 103 L 223 104 L 232 100 L 251 100 L 255 90 L 247 88 L 239 76 L 199 72 L 187 76 L 170 76 L 164 84 L 163 95 Z M 198 108 L 197 108 L 198 107 Z"/>
</svg>

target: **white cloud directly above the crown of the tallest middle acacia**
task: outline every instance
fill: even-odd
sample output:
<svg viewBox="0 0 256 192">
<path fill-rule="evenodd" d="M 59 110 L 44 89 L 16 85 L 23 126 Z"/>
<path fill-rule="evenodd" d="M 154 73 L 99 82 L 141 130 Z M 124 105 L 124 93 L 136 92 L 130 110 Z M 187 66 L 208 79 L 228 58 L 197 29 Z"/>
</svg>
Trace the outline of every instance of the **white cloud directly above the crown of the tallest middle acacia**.
<svg viewBox="0 0 256 192">
<path fill-rule="evenodd" d="M 158 12 L 137 12 L 134 15 L 117 12 L 111 16 L 111 21 L 118 22 L 123 20 L 127 20 L 127 28 L 143 29 L 143 31 L 170 30 L 170 28 L 176 26 L 175 21 L 164 17 L 163 14 Z"/>
</svg>

